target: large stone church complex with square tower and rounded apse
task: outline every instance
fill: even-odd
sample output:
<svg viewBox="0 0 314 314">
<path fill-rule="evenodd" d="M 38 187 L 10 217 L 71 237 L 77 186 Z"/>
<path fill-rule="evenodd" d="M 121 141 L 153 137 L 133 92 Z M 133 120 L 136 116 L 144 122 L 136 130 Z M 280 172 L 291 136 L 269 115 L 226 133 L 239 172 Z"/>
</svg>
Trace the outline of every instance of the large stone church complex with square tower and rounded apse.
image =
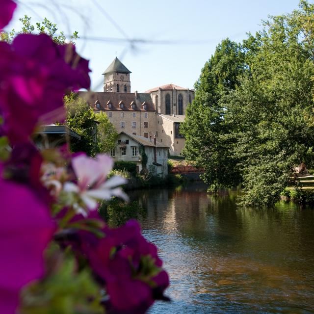
<svg viewBox="0 0 314 314">
<path fill-rule="evenodd" d="M 184 138 L 180 123 L 186 106 L 194 99 L 192 89 L 175 84 L 151 88 L 144 93 L 131 92 L 131 71 L 117 58 L 104 71 L 103 92 L 80 92 L 95 112 L 105 111 L 118 133 L 157 139 L 169 147 L 172 156 L 180 156 Z"/>
</svg>

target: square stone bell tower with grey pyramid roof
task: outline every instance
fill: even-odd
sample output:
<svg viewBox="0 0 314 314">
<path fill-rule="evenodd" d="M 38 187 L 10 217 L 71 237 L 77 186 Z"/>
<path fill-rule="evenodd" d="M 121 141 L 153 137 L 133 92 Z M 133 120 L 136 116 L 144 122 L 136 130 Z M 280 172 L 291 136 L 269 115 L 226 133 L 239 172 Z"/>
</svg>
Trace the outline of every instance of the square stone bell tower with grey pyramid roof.
<svg viewBox="0 0 314 314">
<path fill-rule="evenodd" d="M 117 58 L 104 71 L 104 92 L 131 93 L 131 71 Z"/>
</svg>

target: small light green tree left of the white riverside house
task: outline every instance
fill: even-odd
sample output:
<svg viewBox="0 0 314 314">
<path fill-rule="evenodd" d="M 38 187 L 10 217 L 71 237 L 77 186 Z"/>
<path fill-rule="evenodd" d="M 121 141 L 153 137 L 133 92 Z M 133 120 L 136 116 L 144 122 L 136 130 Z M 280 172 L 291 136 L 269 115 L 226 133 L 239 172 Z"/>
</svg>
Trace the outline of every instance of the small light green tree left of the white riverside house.
<svg viewBox="0 0 314 314">
<path fill-rule="evenodd" d="M 95 119 L 99 122 L 97 130 L 98 151 L 109 153 L 111 148 L 115 148 L 118 133 L 105 112 L 97 113 Z"/>
</svg>

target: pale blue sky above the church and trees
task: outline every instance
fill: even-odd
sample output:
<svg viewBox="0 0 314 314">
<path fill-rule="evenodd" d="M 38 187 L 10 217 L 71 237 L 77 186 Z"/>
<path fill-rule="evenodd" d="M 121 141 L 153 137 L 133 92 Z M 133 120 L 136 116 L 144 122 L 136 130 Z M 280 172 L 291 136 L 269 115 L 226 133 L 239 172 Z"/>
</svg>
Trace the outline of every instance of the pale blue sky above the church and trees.
<svg viewBox="0 0 314 314">
<path fill-rule="evenodd" d="M 116 52 L 132 72 L 132 91 L 144 92 L 167 83 L 193 88 L 204 63 L 222 39 L 229 37 L 240 42 L 246 38 L 246 32 L 254 33 L 261 29 L 261 20 L 267 15 L 291 12 L 298 7 L 298 2 L 21 0 L 19 10 L 7 29 L 20 29 L 18 18 L 27 14 L 34 23 L 47 17 L 65 33 L 78 30 L 82 37 L 170 41 L 173 43 L 135 44 L 131 47 L 130 43 L 123 41 L 82 38 L 77 41 L 77 48 L 82 56 L 90 60 L 94 90 L 102 90 L 101 74 Z M 188 42 L 178 44 L 176 41 Z M 196 43 L 199 41 L 203 43 Z"/>
</svg>

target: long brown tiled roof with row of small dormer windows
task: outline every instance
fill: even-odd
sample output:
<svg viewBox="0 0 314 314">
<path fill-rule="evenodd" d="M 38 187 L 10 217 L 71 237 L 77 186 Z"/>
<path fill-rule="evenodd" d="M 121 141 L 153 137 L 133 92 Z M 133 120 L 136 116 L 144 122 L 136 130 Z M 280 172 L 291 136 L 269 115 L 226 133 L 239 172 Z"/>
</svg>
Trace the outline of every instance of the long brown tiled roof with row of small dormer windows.
<svg viewBox="0 0 314 314">
<path fill-rule="evenodd" d="M 150 94 L 145 93 L 111 93 L 111 92 L 79 92 L 94 110 L 120 111 L 156 111 Z M 100 107 L 97 108 L 96 105 Z M 111 104 L 111 108 L 108 107 Z M 123 109 L 120 105 L 123 104 Z M 132 108 L 135 105 L 135 109 Z M 144 109 L 146 106 L 146 110 Z"/>
</svg>

